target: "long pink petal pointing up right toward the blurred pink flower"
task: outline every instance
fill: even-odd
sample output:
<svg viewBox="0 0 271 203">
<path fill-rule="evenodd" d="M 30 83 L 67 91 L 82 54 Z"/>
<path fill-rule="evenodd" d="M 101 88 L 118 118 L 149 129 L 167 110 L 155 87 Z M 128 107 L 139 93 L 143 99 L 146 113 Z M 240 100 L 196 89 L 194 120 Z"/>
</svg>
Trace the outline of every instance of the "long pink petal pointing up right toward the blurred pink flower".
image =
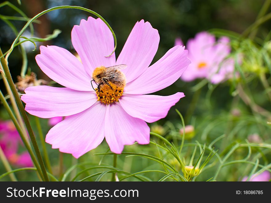
<svg viewBox="0 0 271 203">
<path fill-rule="evenodd" d="M 180 78 L 190 60 L 184 47 L 171 48 L 161 59 L 128 83 L 124 88 L 127 94 L 148 94 L 168 87 Z"/>
</svg>

